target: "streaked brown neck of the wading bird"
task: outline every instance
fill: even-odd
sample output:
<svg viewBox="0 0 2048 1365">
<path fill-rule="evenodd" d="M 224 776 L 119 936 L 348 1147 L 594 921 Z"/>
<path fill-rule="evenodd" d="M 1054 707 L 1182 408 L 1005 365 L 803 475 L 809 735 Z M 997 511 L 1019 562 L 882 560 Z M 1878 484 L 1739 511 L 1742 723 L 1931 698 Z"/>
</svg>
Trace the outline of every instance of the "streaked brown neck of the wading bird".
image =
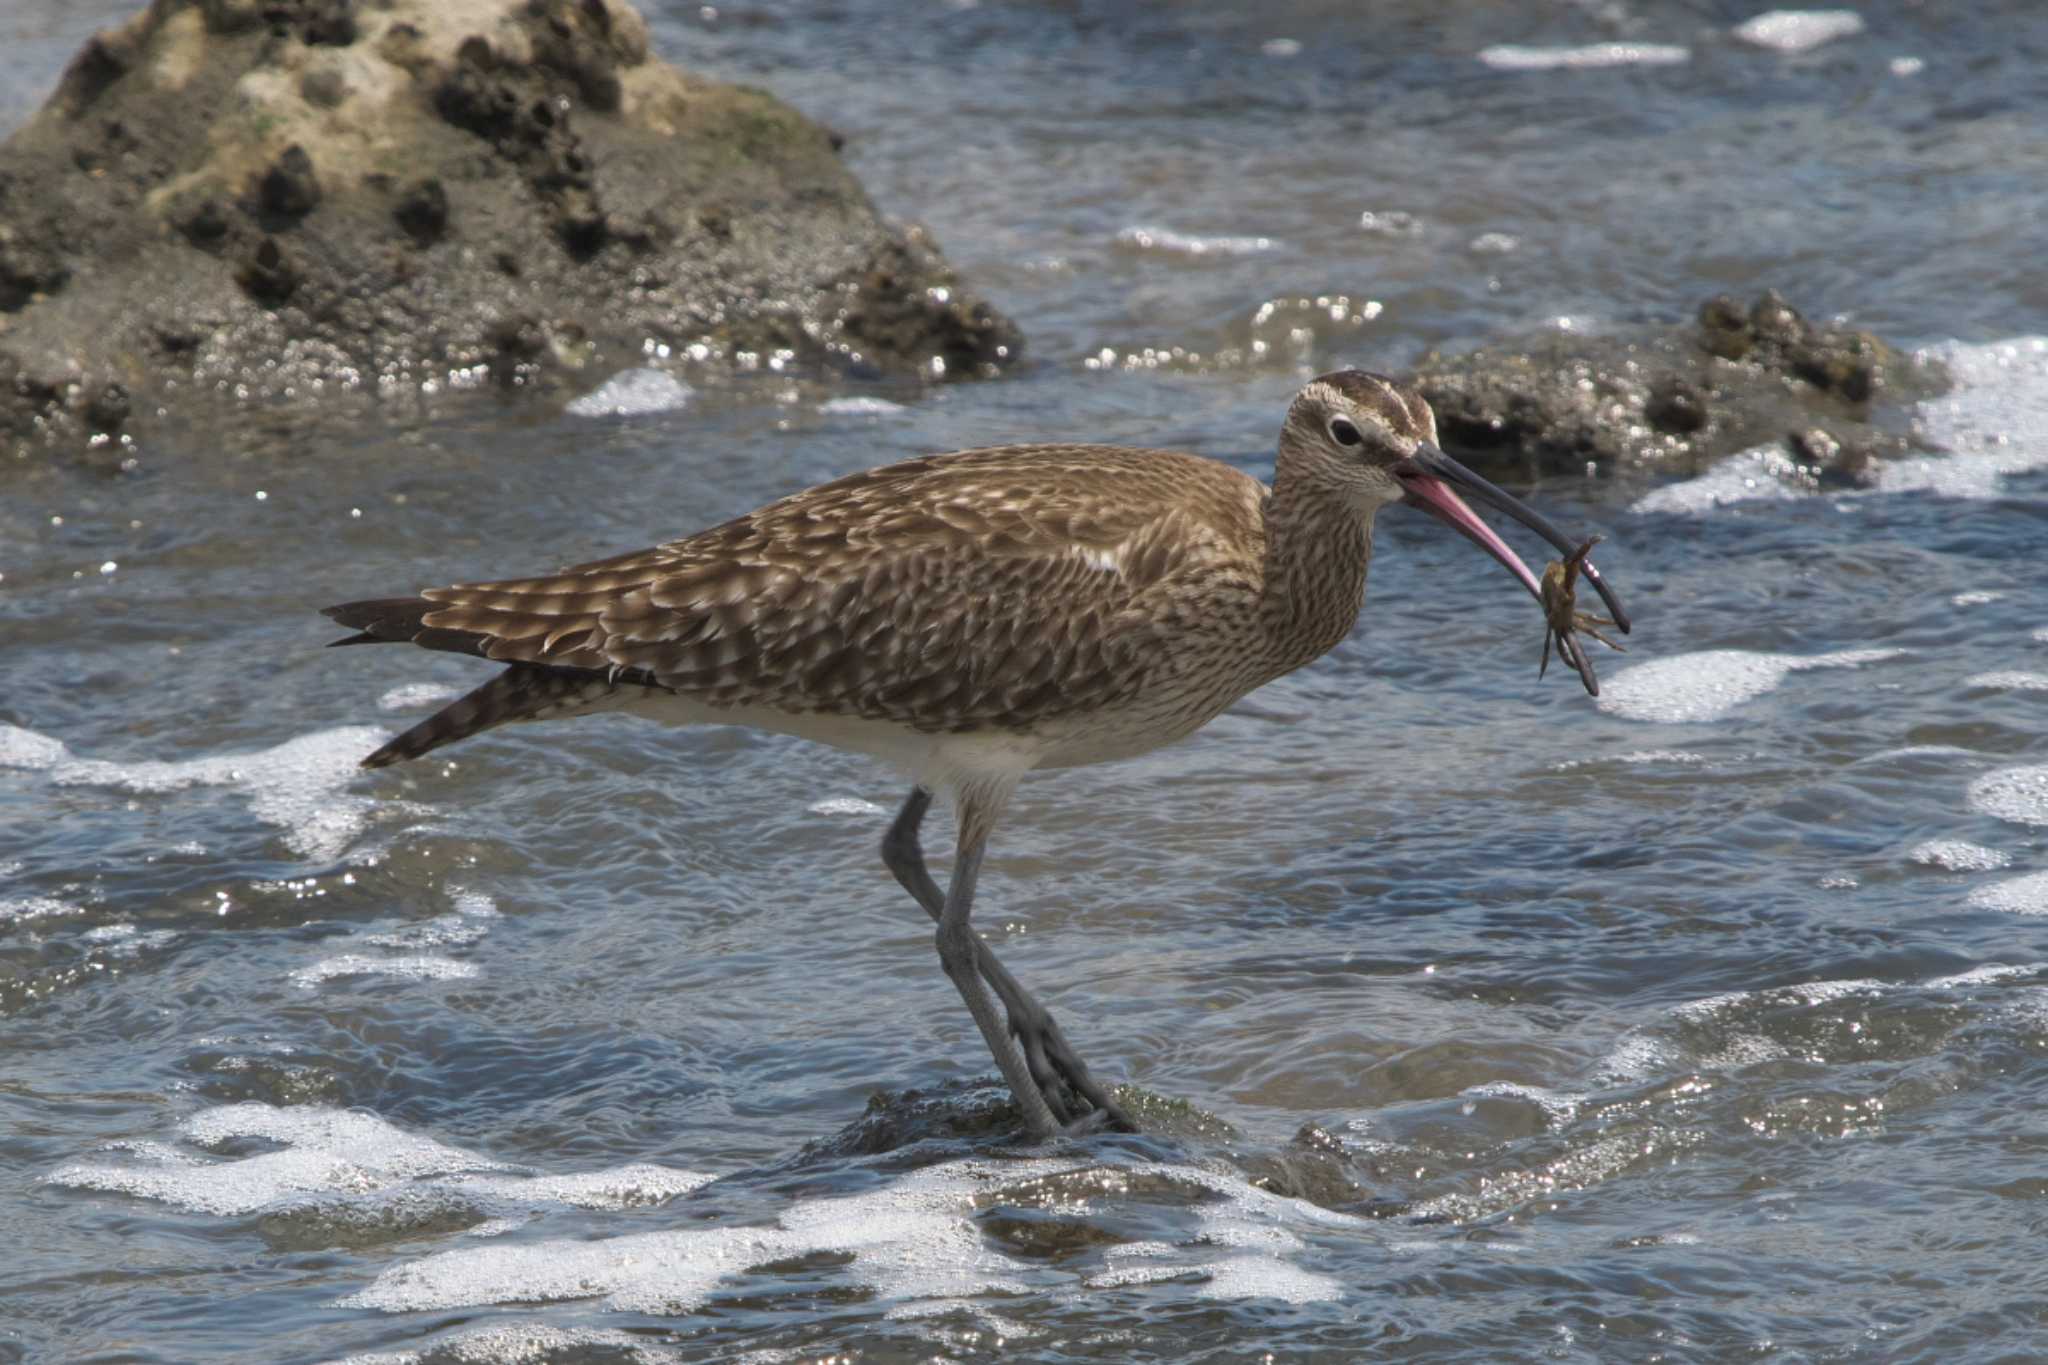
<svg viewBox="0 0 2048 1365">
<path fill-rule="evenodd" d="M 1266 499 L 1266 589 L 1260 616 L 1280 671 L 1337 647 L 1366 602 L 1372 512 L 1282 469 Z"/>
</svg>

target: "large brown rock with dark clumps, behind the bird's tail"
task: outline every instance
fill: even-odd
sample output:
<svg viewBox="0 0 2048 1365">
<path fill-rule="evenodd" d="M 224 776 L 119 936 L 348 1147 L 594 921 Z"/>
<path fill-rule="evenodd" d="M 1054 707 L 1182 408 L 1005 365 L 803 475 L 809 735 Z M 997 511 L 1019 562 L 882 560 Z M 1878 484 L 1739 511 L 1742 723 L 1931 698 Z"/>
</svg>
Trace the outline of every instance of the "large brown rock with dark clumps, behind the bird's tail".
<svg viewBox="0 0 2048 1365">
<path fill-rule="evenodd" d="M 625 0 L 156 0 L 0 145 L 16 452 L 201 395 L 518 385 L 662 348 L 954 379 L 1018 346 L 831 133 L 651 55 Z"/>
</svg>

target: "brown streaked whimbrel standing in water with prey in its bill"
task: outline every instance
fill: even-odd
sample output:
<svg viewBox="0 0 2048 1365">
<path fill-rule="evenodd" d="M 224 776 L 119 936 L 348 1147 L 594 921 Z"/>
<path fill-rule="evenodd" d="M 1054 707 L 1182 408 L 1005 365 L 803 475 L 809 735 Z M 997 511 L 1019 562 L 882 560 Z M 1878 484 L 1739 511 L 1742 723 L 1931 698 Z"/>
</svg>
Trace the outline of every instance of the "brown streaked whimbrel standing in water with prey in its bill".
<svg viewBox="0 0 2048 1365">
<path fill-rule="evenodd" d="M 1026 772 L 1169 745 L 1335 647 L 1364 604 L 1386 503 L 1436 514 L 1542 602 L 1460 491 L 1573 548 L 1438 448 L 1419 393 L 1339 370 L 1288 407 L 1272 487 L 1174 450 L 961 450 L 649 551 L 326 614 L 358 630 L 338 645 L 410 641 L 510 665 L 365 767 L 510 720 L 629 710 L 782 731 L 905 769 L 913 786 L 883 862 L 938 921 L 938 960 L 1026 1130 L 1128 1130 L 1053 1015 L 969 927 L 989 833 Z M 1593 565 L 1581 571 L 1626 630 Z M 934 792 L 958 817 L 944 892 L 918 843 Z"/>
</svg>

